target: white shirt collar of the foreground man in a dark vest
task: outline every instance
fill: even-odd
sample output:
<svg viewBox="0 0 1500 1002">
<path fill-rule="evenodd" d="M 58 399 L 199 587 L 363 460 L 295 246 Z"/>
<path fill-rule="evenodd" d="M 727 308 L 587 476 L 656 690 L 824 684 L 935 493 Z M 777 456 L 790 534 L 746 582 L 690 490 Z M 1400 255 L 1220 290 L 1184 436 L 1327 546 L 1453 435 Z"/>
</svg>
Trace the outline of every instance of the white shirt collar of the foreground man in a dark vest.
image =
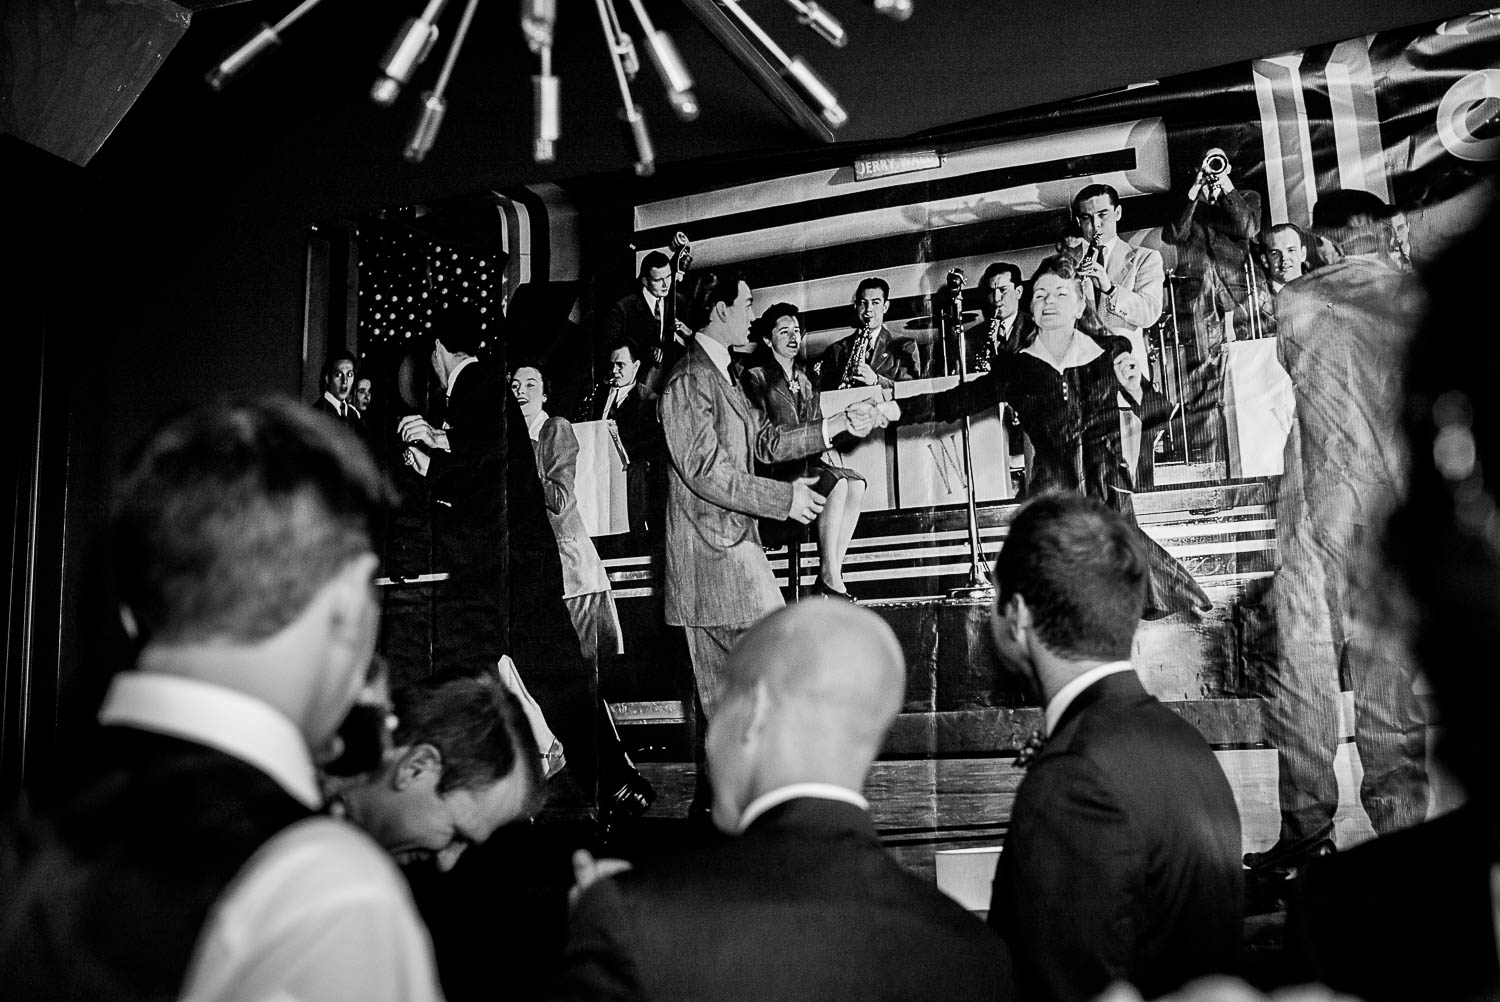
<svg viewBox="0 0 1500 1002">
<path fill-rule="evenodd" d="M 254 765 L 312 810 L 322 806 L 308 742 L 267 702 L 198 678 L 120 672 L 110 682 L 99 723 L 192 741 Z"/>
</svg>

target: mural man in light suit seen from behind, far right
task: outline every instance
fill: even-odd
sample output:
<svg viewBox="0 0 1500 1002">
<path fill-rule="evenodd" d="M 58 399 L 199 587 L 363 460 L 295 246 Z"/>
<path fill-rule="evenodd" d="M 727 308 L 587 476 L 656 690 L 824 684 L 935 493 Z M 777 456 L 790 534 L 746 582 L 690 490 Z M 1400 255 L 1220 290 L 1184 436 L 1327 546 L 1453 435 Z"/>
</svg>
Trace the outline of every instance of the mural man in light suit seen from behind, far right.
<svg viewBox="0 0 1500 1002">
<path fill-rule="evenodd" d="M 1246 862 L 1296 868 L 1332 850 L 1340 675 L 1354 694 L 1359 800 L 1377 836 L 1426 816 L 1426 726 L 1406 642 L 1380 618 L 1372 543 L 1406 482 L 1396 420 L 1414 280 L 1390 260 L 1389 207 L 1341 189 L 1314 206 L 1336 260 L 1282 290 L 1276 354 L 1296 399 L 1276 514 L 1276 663 L 1266 723 L 1281 836 Z"/>
</svg>

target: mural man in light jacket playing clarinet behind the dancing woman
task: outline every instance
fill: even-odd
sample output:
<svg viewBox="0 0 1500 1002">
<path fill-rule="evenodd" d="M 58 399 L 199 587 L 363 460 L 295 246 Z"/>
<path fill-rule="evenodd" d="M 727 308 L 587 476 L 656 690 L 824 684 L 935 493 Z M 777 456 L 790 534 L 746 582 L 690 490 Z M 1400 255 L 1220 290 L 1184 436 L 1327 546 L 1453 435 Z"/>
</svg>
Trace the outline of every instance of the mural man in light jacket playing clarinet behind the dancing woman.
<svg viewBox="0 0 1500 1002">
<path fill-rule="evenodd" d="M 1089 255 L 1078 272 L 1094 284 L 1094 308 L 1100 321 L 1112 334 L 1130 340 L 1140 370 L 1149 375 L 1144 328 L 1161 320 L 1166 272 L 1160 250 L 1136 248 L 1120 240 L 1120 214 L 1119 192 L 1110 184 L 1088 184 L 1072 196 L 1072 218 L 1089 242 Z M 1155 448 L 1149 441 L 1142 441 L 1142 420 L 1128 410 L 1124 396 L 1119 402 L 1120 452 L 1125 456 L 1142 456 L 1130 471 L 1131 480 L 1137 488 L 1150 488 Z"/>
</svg>

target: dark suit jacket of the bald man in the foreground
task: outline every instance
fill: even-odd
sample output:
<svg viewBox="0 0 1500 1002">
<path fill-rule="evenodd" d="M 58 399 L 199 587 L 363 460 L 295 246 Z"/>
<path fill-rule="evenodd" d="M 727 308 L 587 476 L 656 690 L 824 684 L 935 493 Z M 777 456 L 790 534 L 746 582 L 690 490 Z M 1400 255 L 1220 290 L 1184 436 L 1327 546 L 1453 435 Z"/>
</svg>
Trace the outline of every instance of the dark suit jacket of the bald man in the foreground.
<svg viewBox="0 0 1500 1002">
<path fill-rule="evenodd" d="M 1005 945 L 880 846 L 870 816 L 794 800 L 672 866 L 594 884 L 567 999 L 1010 999 Z"/>
</svg>

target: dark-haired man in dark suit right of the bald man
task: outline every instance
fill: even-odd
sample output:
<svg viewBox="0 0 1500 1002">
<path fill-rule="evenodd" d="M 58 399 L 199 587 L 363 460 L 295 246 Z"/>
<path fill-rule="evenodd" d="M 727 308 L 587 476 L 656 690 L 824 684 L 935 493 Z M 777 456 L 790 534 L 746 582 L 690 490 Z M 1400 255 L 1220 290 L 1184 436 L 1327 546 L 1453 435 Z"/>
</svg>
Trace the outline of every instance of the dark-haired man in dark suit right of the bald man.
<svg viewBox="0 0 1500 1002">
<path fill-rule="evenodd" d="M 1236 966 L 1239 812 L 1203 736 L 1146 694 L 1131 642 L 1146 594 L 1138 532 L 1077 495 L 1022 508 L 994 564 L 1002 664 L 1046 705 L 1016 795 L 990 924 L 1023 999 L 1146 998 Z"/>
</svg>

